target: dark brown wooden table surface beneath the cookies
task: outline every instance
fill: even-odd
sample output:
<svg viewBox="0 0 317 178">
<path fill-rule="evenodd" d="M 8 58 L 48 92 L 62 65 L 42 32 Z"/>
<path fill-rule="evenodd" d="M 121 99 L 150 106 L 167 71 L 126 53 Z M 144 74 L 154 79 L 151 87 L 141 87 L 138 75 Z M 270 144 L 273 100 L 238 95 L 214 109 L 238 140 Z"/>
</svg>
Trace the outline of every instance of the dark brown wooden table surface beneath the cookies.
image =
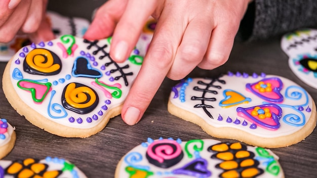
<svg viewBox="0 0 317 178">
<path fill-rule="evenodd" d="M 76 5 L 72 3 L 76 2 Z M 92 11 L 103 1 L 60 1 L 54 0 L 49 9 L 67 16 L 84 17 L 90 20 Z M 63 6 L 61 6 L 63 5 Z M 83 8 L 85 7 L 85 8 Z M 254 72 L 280 75 L 293 80 L 305 88 L 317 101 L 317 90 L 300 81 L 288 67 L 288 57 L 280 48 L 281 36 L 249 43 L 235 42 L 231 56 L 223 66 L 207 71 L 194 69 L 190 77 L 216 76 L 219 73 Z M 2 76 L 6 63 L 0 63 Z M 177 81 L 166 78 L 156 93 L 142 120 L 134 125 L 125 124 L 121 116 L 110 119 L 107 126 L 96 135 L 86 138 L 62 138 L 52 135 L 29 123 L 8 103 L 0 89 L 0 117 L 6 118 L 16 127 L 17 140 L 12 152 L 4 159 L 47 156 L 65 158 L 88 177 L 113 177 L 118 161 L 132 148 L 146 142 L 147 138 L 214 139 L 200 126 L 177 118 L 167 111 L 171 87 Z M 1 82 L 2 86 L 2 82 Z M 230 141 L 218 139 L 220 141 Z M 271 149 L 280 157 L 286 177 L 316 177 L 317 167 L 316 129 L 304 141 L 287 148 Z"/>
</svg>

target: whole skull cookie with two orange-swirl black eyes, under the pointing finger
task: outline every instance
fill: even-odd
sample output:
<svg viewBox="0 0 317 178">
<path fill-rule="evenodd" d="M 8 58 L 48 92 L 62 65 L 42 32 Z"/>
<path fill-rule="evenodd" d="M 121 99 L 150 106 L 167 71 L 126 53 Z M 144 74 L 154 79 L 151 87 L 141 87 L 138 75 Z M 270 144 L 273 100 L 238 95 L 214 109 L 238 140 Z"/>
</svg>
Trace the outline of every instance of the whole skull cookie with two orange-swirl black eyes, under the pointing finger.
<svg viewBox="0 0 317 178">
<path fill-rule="evenodd" d="M 94 135 L 121 113 L 143 62 L 137 49 L 125 62 L 114 62 L 110 40 L 63 35 L 22 48 L 4 72 L 8 101 L 32 124 L 55 135 Z"/>
</svg>

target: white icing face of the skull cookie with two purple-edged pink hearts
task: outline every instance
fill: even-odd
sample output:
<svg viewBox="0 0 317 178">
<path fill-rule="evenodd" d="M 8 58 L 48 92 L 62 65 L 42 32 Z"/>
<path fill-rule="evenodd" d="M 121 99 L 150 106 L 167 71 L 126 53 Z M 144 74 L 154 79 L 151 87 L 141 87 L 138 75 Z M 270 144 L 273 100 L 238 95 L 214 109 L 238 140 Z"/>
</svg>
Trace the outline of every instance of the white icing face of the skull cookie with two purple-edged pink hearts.
<svg viewBox="0 0 317 178">
<path fill-rule="evenodd" d="M 268 101 L 267 98 L 259 97 L 247 90 L 246 86 L 248 83 L 252 86 L 259 81 L 265 81 L 265 84 L 270 82 L 278 84 L 276 82 L 278 80 L 275 80 L 276 78 L 281 83 L 279 86 L 272 85 L 271 88 L 274 90 L 276 86 L 276 93 L 283 96 L 274 95 L 276 100 Z M 183 85 L 178 84 L 173 87 L 170 102 L 178 108 L 199 116 L 207 124 L 218 128 L 231 127 L 261 138 L 276 138 L 290 135 L 303 128 L 312 114 L 311 96 L 302 87 L 281 76 L 265 76 L 263 73 L 261 75 L 248 75 L 239 72 L 233 74 L 229 72 L 228 75 L 223 75 L 219 78 L 190 78 L 183 83 Z M 246 117 L 237 115 L 237 108 L 239 107 L 249 108 L 264 104 L 274 104 L 274 107 L 271 108 L 274 111 L 270 110 L 270 112 L 274 112 L 278 116 L 280 114 L 280 117 L 275 120 L 276 123 L 274 121 L 273 123 L 270 122 L 270 125 L 273 125 L 272 127 L 270 125 L 261 126 L 261 124 L 257 123 L 261 119 L 249 117 L 248 120 Z M 276 105 L 282 110 L 275 110 Z M 211 117 L 208 113 L 210 113 Z M 266 119 L 272 121 L 272 118 Z M 280 124 L 280 127 L 276 127 L 277 124 Z"/>
</svg>

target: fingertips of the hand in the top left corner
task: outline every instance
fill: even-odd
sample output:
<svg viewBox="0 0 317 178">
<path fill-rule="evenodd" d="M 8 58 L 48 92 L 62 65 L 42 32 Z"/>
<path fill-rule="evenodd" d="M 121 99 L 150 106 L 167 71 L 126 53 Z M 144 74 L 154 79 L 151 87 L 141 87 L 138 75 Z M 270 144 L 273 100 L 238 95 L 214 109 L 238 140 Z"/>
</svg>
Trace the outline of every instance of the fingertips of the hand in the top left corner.
<svg viewBox="0 0 317 178">
<path fill-rule="evenodd" d="M 26 33 L 33 42 L 54 38 L 45 12 L 48 0 L 0 1 L 0 42 L 11 41 Z"/>
</svg>

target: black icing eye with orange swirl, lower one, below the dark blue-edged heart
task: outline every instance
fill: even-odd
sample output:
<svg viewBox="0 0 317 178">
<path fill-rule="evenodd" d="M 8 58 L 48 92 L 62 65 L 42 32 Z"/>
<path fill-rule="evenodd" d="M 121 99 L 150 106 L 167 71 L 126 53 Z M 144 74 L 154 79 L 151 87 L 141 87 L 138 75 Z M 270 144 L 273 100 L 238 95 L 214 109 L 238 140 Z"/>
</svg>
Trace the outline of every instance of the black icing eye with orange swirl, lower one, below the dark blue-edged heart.
<svg viewBox="0 0 317 178">
<path fill-rule="evenodd" d="M 81 83 L 69 83 L 65 86 L 62 104 L 66 109 L 78 114 L 87 114 L 98 105 L 97 93 L 89 86 Z"/>
</svg>

